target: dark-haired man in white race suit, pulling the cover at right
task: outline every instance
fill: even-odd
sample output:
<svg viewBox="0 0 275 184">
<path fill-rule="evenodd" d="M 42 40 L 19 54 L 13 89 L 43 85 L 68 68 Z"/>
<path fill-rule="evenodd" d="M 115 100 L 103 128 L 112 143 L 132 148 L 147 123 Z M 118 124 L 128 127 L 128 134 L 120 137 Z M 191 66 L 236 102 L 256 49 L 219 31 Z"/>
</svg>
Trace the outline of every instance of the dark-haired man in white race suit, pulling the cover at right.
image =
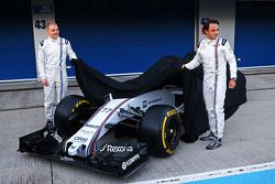
<svg viewBox="0 0 275 184">
<path fill-rule="evenodd" d="M 206 39 L 199 44 L 194 59 L 182 68 L 194 69 L 204 66 L 204 99 L 208 113 L 210 132 L 201 137 L 211 141 L 206 149 L 213 150 L 221 145 L 224 129 L 224 99 L 227 91 L 227 63 L 230 66 L 229 88 L 235 87 L 237 62 L 233 51 L 226 39 L 219 39 L 219 21 L 206 20 L 202 26 Z"/>
</svg>

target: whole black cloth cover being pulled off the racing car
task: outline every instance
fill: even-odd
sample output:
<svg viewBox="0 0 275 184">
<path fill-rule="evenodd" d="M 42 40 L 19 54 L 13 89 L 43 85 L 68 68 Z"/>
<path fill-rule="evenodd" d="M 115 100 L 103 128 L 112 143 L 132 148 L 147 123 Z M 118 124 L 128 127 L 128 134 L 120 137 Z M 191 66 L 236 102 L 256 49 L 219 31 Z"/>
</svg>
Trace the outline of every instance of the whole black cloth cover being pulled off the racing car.
<svg viewBox="0 0 275 184">
<path fill-rule="evenodd" d="M 193 71 L 180 68 L 184 63 L 191 61 L 195 53 L 188 53 L 184 57 L 164 56 L 139 77 L 123 83 L 101 74 L 81 59 L 73 59 L 72 63 L 75 66 L 76 79 L 82 94 L 97 107 L 105 102 L 108 94 L 112 94 L 113 98 L 131 98 L 146 91 L 161 89 L 166 85 L 176 85 L 183 88 L 185 132 L 182 140 L 194 142 L 209 129 L 202 97 L 202 66 Z M 226 119 L 246 101 L 245 83 L 244 75 L 238 71 L 237 87 L 227 90 Z"/>
</svg>

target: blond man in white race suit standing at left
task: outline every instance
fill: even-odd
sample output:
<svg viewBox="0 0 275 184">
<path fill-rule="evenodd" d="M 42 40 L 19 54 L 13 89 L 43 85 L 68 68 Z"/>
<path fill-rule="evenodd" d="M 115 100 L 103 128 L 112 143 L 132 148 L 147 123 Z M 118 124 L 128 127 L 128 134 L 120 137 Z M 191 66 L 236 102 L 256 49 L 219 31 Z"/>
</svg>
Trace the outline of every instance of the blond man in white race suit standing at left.
<svg viewBox="0 0 275 184">
<path fill-rule="evenodd" d="M 77 58 L 68 40 L 59 37 L 58 25 L 55 22 L 46 24 L 48 37 L 40 43 L 37 66 L 41 83 L 44 87 L 44 107 L 47 119 L 45 129 L 53 131 L 53 104 L 55 89 L 57 101 L 67 93 L 66 57 Z"/>
</svg>

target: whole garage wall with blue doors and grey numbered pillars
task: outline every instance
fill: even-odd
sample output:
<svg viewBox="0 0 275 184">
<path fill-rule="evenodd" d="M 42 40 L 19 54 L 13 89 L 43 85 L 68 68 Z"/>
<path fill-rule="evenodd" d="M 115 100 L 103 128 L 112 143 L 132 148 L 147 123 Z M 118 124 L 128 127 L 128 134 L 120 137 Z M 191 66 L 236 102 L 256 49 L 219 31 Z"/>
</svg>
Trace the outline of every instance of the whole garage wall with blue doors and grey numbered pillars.
<svg viewBox="0 0 275 184">
<path fill-rule="evenodd" d="M 219 19 L 220 36 L 229 40 L 240 67 L 275 65 L 274 0 L 116 2 L 1 1 L 0 83 L 37 80 L 35 52 L 50 20 L 59 23 L 79 57 L 112 76 L 136 75 L 163 55 L 193 51 L 204 37 L 202 18 Z M 68 73 L 74 76 L 73 69 Z"/>
</svg>

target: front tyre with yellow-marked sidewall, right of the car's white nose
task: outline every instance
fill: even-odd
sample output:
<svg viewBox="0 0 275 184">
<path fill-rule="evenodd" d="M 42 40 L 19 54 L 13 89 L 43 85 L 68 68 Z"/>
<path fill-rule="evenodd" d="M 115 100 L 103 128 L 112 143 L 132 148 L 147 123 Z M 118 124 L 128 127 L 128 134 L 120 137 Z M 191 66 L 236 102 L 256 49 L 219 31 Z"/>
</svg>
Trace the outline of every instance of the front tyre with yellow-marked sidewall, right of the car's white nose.
<svg viewBox="0 0 275 184">
<path fill-rule="evenodd" d="M 175 108 L 165 105 L 152 106 L 145 111 L 140 123 L 139 141 L 150 145 L 152 155 L 172 155 L 178 145 L 180 125 Z"/>
</svg>

